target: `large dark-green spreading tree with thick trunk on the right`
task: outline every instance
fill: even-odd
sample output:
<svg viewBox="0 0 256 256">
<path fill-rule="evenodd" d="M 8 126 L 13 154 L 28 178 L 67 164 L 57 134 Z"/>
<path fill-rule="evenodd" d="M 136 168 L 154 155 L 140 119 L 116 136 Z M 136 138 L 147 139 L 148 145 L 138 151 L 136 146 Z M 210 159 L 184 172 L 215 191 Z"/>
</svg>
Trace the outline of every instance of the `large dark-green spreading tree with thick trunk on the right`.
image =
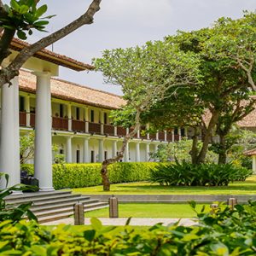
<svg viewBox="0 0 256 256">
<path fill-rule="evenodd" d="M 179 50 L 192 52 L 200 60 L 200 82 L 194 86 L 185 86 L 184 90 L 175 90 L 177 100 L 171 103 L 164 100 L 155 104 L 148 112 L 148 119 L 152 119 L 153 116 L 156 128 L 159 126 L 161 129 L 183 125 L 186 122 L 193 126 L 195 135 L 191 155 L 192 162 L 195 164 L 205 161 L 216 125 L 223 127 L 222 122 L 229 119 L 230 126 L 253 109 L 253 103 L 248 103 L 246 108 L 241 107 L 240 104 L 242 100 L 248 99 L 248 88 L 253 88 L 251 82 L 255 63 L 251 60 L 255 60 L 255 40 L 253 41 L 255 38 L 253 18 L 255 20 L 255 17 L 253 13 L 246 14 L 240 20 L 221 18 L 211 28 L 195 32 L 179 32 L 177 36 L 166 38 L 166 43 L 170 44 L 170 47 L 176 44 Z M 227 40 L 225 40 L 226 34 L 229 35 Z M 240 42 L 235 40 L 235 43 L 230 43 L 233 50 L 233 54 L 230 55 L 231 46 L 228 43 L 232 41 L 231 36 L 238 34 Z M 242 44 L 242 38 L 245 40 L 245 45 Z M 222 40 L 226 44 L 218 44 Z M 252 44 L 251 47 L 249 47 L 250 44 Z M 240 46 L 242 50 L 239 49 Z M 239 59 L 235 58 L 236 52 Z M 244 64 L 241 65 L 241 61 Z M 252 73 L 248 74 L 244 68 L 245 65 L 249 65 L 248 68 Z M 163 109 L 161 114 L 159 109 Z M 202 109 L 207 113 L 207 119 L 200 118 Z M 198 148 L 200 130 L 203 144 Z M 226 130 L 229 131 L 229 129 Z"/>
</svg>

